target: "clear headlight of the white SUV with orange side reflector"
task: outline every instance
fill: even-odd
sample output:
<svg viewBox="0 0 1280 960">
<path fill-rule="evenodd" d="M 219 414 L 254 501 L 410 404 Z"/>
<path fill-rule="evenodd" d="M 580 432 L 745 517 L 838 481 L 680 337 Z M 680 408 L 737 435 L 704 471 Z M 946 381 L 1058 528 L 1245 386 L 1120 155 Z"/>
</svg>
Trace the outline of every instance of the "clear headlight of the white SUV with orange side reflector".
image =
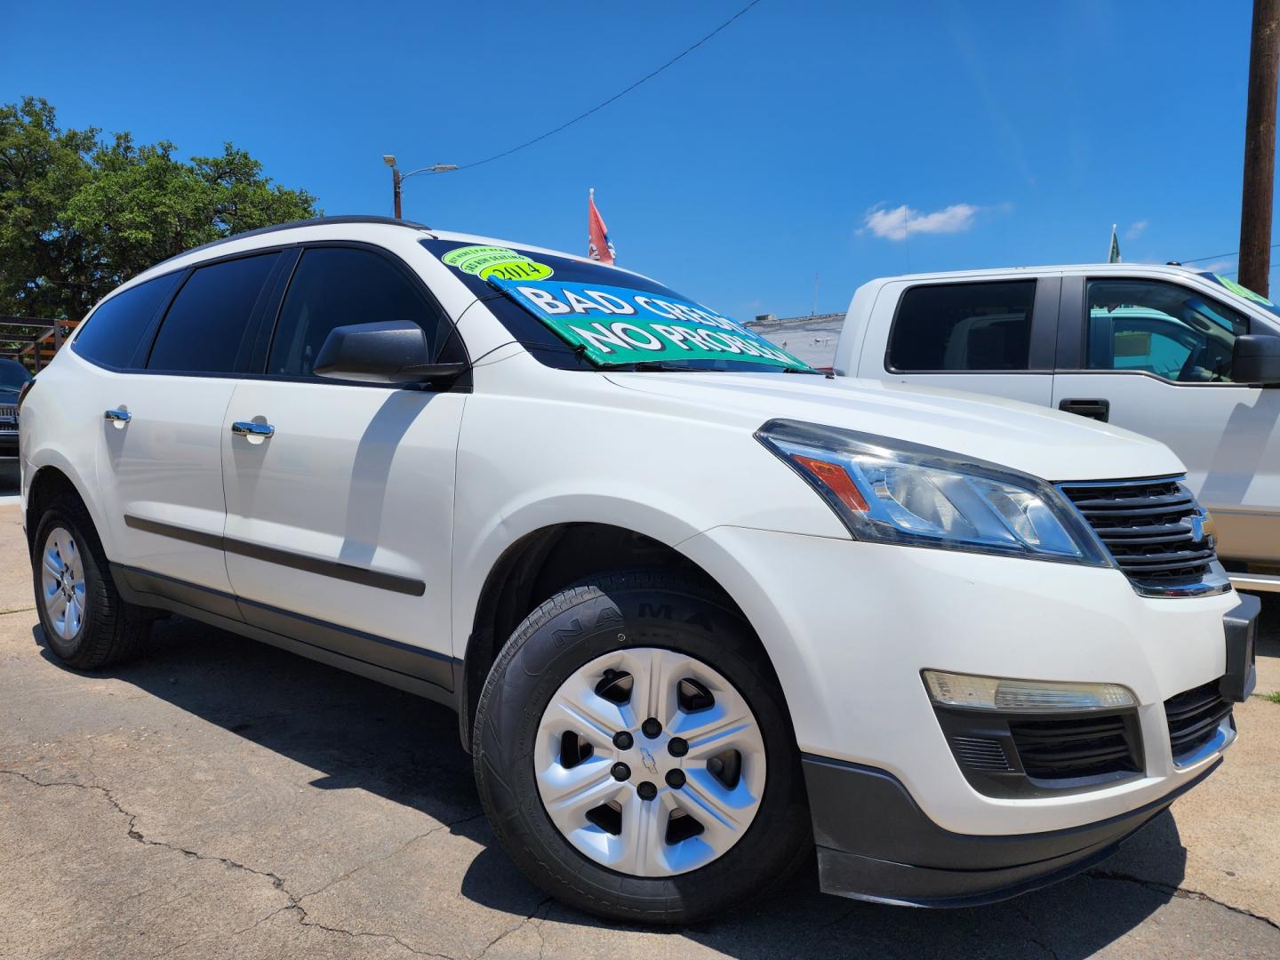
<svg viewBox="0 0 1280 960">
<path fill-rule="evenodd" d="M 755 436 L 859 540 L 1111 566 L 1071 504 L 1034 476 L 795 420 L 771 420 Z"/>
</svg>

